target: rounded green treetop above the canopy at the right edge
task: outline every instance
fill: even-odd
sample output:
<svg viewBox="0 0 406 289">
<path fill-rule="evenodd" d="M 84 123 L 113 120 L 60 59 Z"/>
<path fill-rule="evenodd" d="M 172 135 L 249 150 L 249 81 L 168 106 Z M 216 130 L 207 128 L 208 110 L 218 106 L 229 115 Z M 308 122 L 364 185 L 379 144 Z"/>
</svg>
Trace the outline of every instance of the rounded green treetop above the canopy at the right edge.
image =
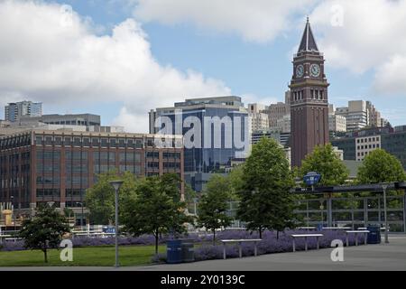
<svg viewBox="0 0 406 289">
<path fill-rule="evenodd" d="M 377 149 L 365 156 L 357 180 L 362 183 L 399 182 L 406 180 L 406 176 L 395 156 Z"/>
</svg>

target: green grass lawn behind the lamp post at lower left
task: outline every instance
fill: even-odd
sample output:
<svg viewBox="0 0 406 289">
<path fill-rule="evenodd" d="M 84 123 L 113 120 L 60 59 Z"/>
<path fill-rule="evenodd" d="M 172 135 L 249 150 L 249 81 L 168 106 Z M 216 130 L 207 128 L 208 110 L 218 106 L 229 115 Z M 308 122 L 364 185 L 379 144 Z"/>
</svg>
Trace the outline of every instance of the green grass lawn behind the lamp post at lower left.
<svg viewBox="0 0 406 289">
<path fill-rule="evenodd" d="M 159 252 L 164 253 L 166 246 L 160 246 Z M 48 251 L 48 264 L 43 262 L 40 250 L 0 252 L 0 266 L 114 266 L 115 247 L 78 247 L 73 248 L 73 262 L 60 261 L 60 252 L 56 249 Z M 121 266 L 142 266 L 151 264 L 155 253 L 154 246 L 122 246 L 119 247 Z"/>
</svg>

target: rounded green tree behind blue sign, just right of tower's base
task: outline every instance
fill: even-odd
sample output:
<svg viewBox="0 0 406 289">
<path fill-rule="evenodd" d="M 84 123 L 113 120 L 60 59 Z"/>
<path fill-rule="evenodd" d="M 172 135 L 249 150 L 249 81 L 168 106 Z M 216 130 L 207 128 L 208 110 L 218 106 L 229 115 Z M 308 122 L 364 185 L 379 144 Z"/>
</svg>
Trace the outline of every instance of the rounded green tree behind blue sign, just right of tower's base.
<svg viewBox="0 0 406 289">
<path fill-rule="evenodd" d="M 308 172 L 321 174 L 319 185 L 332 186 L 344 184 L 348 180 L 349 170 L 334 152 L 333 145 L 318 145 L 312 154 L 308 154 L 300 167 L 300 177 Z"/>
</svg>

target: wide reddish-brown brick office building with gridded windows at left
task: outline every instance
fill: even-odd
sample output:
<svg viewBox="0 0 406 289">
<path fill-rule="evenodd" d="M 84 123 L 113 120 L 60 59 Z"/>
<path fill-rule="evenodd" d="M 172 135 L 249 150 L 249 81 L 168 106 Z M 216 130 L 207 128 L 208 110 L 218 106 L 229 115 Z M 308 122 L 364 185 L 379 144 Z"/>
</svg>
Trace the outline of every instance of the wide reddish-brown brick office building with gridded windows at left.
<svg viewBox="0 0 406 289">
<path fill-rule="evenodd" d="M 49 201 L 78 210 L 97 174 L 111 170 L 138 176 L 172 172 L 184 180 L 182 138 L 167 135 L 162 147 L 156 137 L 41 129 L 1 136 L 0 203 L 13 201 L 23 215 Z"/>
</svg>

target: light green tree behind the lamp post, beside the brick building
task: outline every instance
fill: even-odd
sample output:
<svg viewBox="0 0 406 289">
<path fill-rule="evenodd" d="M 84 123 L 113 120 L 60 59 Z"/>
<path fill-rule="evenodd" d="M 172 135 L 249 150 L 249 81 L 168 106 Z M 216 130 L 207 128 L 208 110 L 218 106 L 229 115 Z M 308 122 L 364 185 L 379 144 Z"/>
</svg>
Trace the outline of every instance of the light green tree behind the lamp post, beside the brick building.
<svg viewBox="0 0 406 289">
<path fill-rule="evenodd" d="M 131 172 L 118 176 L 116 172 L 106 172 L 98 175 L 97 183 L 86 192 L 86 206 L 95 224 L 113 224 L 115 222 L 115 190 L 110 181 L 120 178 L 123 184 L 118 193 L 119 207 L 126 201 L 134 199 L 138 180 Z M 120 218 L 123 210 L 119 210 Z"/>
</svg>

